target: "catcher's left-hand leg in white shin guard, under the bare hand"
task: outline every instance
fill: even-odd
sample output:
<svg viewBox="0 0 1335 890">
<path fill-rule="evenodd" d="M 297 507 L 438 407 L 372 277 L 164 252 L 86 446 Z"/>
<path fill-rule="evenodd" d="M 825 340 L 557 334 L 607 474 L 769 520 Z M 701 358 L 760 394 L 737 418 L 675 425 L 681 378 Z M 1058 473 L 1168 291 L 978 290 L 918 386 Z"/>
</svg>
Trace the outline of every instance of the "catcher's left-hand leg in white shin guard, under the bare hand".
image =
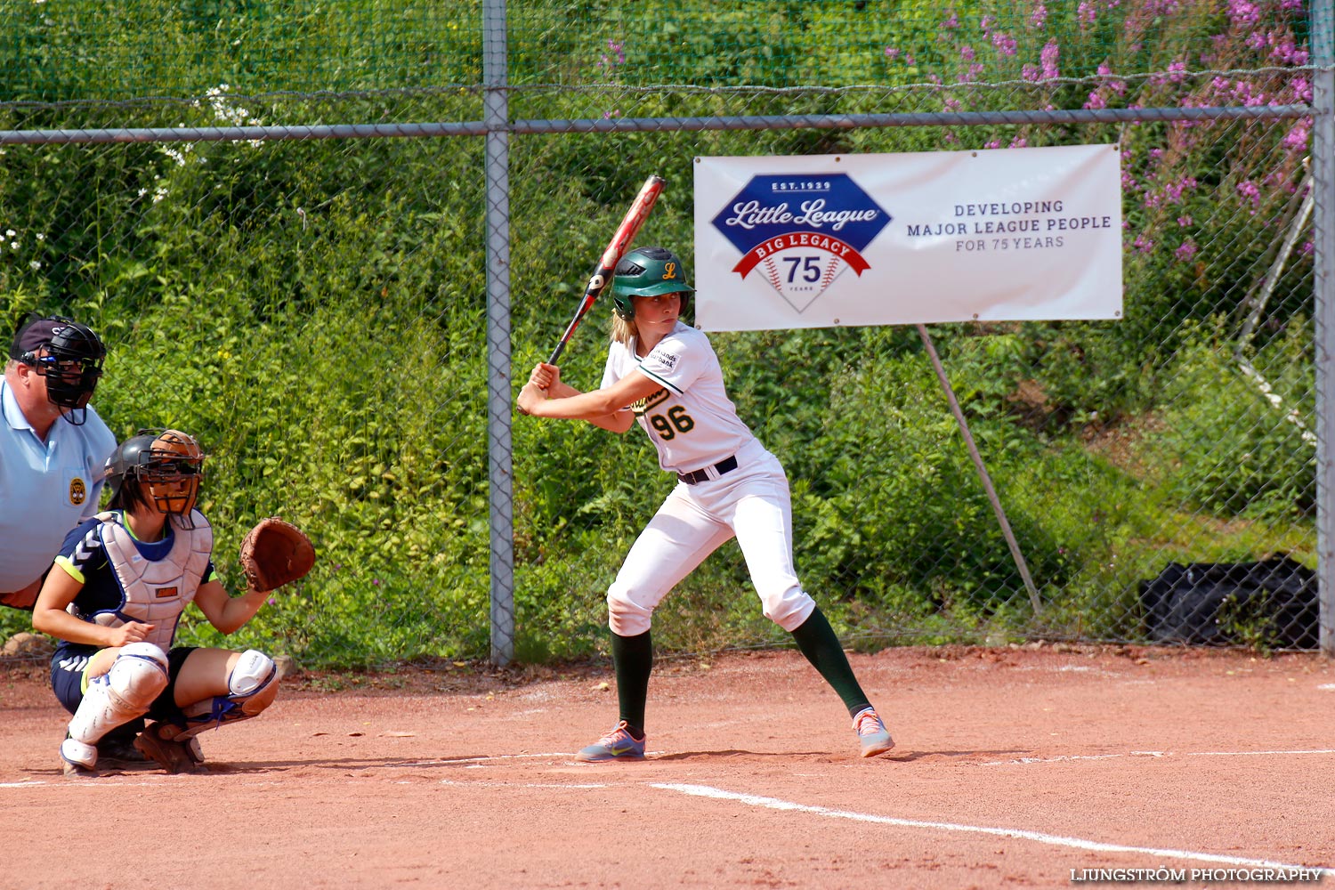
<svg viewBox="0 0 1335 890">
<path fill-rule="evenodd" d="M 69 721 L 69 738 L 60 743 L 67 771 L 92 771 L 97 741 L 117 726 L 143 717 L 167 689 L 167 656 L 152 643 L 120 648 L 111 670 L 88 681 L 83 701 Z"/>
</svg>

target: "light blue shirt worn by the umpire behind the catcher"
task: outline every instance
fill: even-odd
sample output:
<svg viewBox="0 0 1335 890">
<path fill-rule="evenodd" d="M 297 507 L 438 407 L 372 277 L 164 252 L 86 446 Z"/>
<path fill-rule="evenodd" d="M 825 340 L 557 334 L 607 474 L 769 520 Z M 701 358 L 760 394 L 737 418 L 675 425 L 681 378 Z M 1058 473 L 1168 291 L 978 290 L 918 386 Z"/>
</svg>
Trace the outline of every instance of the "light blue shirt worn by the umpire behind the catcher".
<svg viewBox="0 0 1335 890">
<path fill-rule="evenodd" d="M 12 592 L 40 578 L 65 532 L 97 512 L 116 436 L 88 408 L 81 426 L 61 418 L 43 442 L 4 379 L 0 406 L 0 592 Z"/>
</svg>

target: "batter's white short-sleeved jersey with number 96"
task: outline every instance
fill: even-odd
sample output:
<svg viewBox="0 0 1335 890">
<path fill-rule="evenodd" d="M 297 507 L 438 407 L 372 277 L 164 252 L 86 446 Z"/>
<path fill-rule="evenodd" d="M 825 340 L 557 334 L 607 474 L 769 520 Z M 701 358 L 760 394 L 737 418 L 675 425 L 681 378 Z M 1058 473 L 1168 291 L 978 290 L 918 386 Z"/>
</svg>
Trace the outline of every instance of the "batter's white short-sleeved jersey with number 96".
<svg viewBox="0 0 1335 890">
<path fill-rule="evenodd" d="M 724 372 L 709 338 L 677 322 L 643 359 L 635 355 L 635 339 L 613 343 L 602 388 L 627 374 L 638 372 L 661 383 L 662 390 L 626 406 L 658 448 L 658 466 L 668 472 L 694 472 L 725 460 L 756 439 L 737 416 L 724 388 Z"/>
</svg>

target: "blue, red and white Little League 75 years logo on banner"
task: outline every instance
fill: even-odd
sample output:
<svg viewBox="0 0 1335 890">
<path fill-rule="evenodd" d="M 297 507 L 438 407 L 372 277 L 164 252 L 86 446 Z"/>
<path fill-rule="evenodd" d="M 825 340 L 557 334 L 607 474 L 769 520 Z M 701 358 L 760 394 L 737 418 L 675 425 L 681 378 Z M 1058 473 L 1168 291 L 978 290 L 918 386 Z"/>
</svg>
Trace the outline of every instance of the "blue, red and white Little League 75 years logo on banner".
<svg viewBox="0 0 1335 890">
<path fill-rule="evenodd" d="M 752 177 L 713 224 L 742 254 L 734 272 L 758 268 L 802 312 L 845 267 L 870 268 L 861 251 L 890 219 L 848 173 L 812 173 Z"/>
</svg>

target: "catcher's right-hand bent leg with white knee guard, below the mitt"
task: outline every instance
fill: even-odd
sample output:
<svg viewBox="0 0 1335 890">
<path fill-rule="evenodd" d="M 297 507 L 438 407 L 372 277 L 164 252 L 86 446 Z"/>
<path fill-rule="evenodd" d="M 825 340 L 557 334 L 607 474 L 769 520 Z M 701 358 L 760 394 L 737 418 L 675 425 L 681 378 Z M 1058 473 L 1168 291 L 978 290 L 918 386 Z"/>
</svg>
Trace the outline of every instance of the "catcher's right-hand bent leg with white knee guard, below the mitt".
<svg viewBox="0 0 1335 890">
<path fill-rule="evenodd" d="M 228 695 L 215 695 L 182 709 L 180 721 L 160 721 L 143 731 L 136 746 L 168 773 L 204 773 L 195 737 L 207 729 L 258 717 L 278 695 L 278 667 L 264 652 L 242 652 L 227 677 Z"/>
</svg>

